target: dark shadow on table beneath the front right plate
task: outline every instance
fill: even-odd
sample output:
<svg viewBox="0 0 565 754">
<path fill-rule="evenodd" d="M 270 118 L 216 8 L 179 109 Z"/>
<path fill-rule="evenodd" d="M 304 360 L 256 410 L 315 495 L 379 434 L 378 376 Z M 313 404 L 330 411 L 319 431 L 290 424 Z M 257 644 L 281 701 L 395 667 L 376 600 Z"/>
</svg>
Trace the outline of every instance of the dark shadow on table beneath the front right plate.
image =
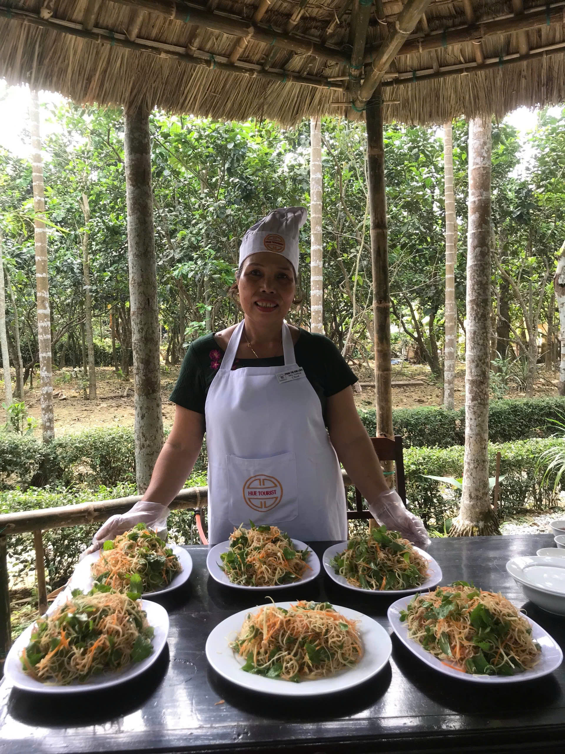
<svg viewBox="0 0 565 754">
<path fill-rule="evenodd" d="M 534 710 L 547 710 L 561 697 L 560 685 L 553 675 L 505 685 L 503 689 L 498 684 L 487 686 L 443 676 L 415 657 L 398 636 L 392 634 L 391 638 L 392 658 L 402 675 L 446 710 L 464 715 L 515 718 Z"/>
</svg>

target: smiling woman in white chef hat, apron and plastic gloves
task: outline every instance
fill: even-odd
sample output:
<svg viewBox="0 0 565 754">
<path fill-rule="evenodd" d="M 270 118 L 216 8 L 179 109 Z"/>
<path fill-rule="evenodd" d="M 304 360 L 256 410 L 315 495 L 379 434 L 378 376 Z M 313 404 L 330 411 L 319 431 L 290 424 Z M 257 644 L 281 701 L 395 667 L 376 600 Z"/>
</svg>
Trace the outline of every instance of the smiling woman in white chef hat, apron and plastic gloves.
<svg viewBox="0 0 565 754">
<path fill-rule="evenodd" d="M 346 540 L 339 461 L 380 523 L 428 543 L 423 523 L 386 485 L 356 411 L 356 376 L 325 336 L 286 324 L 306 218 L 304 207 L 277 209 L 246 232 L 234 285 L 243 320 L 188 348 L 170 397 L 173 429 L 145 500 L 111 516 L 89 551 L 139 522 L 162 528 L 204 431 L 210 544 L 250 519 L 303 541 Z"/>
</svg>

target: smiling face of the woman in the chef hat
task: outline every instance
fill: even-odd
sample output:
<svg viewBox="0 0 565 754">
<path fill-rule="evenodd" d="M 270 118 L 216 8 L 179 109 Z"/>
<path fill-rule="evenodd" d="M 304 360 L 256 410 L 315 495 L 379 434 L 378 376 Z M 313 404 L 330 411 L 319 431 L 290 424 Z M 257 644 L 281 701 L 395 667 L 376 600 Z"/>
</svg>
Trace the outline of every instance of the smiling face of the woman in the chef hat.
<svg viewBox="0 0 565 754">
<path fill-rule="evenodd" d="M 237 288 L 246 317 L 282 320 L 295 298 L 295 271 L 284 256 L 260 251 L 243 261 Z"/>
</svg>

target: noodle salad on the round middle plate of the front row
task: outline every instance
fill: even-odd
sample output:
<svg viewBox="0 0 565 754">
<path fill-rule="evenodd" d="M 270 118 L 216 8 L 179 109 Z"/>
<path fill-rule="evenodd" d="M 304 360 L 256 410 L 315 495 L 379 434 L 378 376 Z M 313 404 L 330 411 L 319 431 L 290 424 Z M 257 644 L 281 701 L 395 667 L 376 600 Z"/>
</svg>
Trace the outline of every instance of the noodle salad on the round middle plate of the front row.
<svg viewBox="0 0 565 754">
<path fill-rule="evenodd" d="M 357 624 L 329 602 L 267 605 L 249 613 L 230 647 L 246 658 L 242 670 L 299 682 L 354 667 L 363 656 Z"/>
</svg>

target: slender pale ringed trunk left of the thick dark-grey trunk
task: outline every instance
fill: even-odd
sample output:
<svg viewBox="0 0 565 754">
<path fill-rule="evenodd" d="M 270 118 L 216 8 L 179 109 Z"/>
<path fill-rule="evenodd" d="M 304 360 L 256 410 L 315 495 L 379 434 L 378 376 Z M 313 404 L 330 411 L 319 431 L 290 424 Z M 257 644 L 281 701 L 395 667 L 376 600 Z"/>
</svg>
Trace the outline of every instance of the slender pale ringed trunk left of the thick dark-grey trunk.
<svg viewBox="0 0 565 754">
<path fill-rule="evenodd" d="M 32 90 L 29 109 L 32 132 L 33 208 L 35 210 L 35 280 L 37 286 L 37 327 L 39 345 L 39 380 L 41 385 L 41 430 L 44 443 L 55 437 L 53 416 L 53 373 L 51 370 L 51 315 L 49 310 L 49 277 L 47 273 L 47 228 L 43 161 L 39 134 L 38 93 Z"/>
</svg>

